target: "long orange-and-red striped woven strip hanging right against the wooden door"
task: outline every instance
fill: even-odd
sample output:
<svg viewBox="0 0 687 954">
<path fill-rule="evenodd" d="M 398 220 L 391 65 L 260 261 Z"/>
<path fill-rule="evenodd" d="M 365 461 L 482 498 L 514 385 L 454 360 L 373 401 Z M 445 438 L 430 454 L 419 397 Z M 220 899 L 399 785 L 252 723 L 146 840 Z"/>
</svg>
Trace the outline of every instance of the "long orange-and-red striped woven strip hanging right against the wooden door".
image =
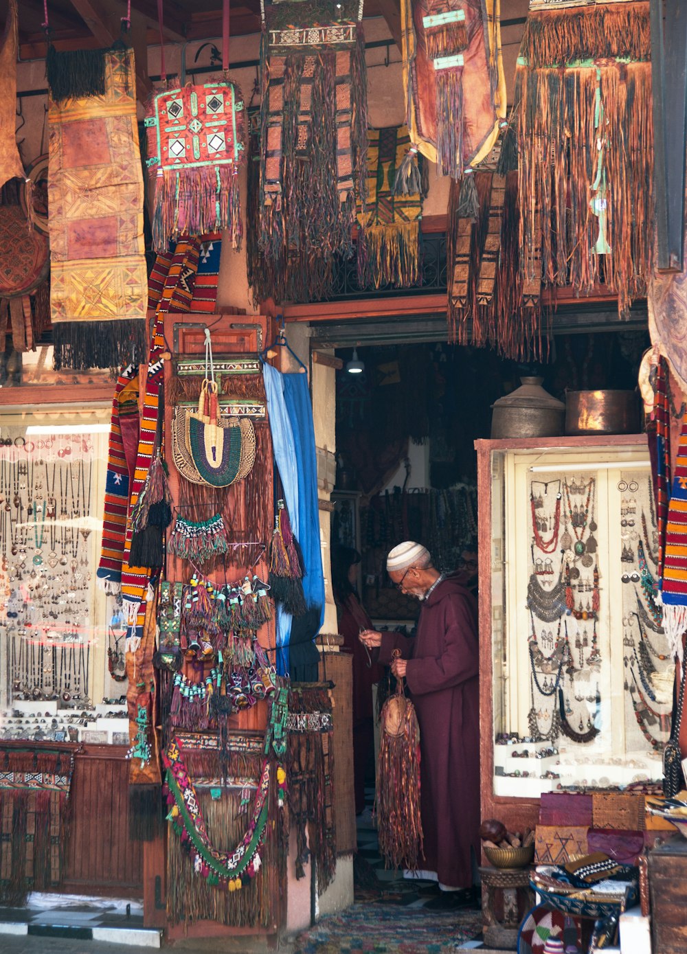
<svg viewBox="0 0 687 954">
<path fill-rule="evenodd" d="M 134 480 L 132 482 L 131 494 L 129 498 L 129 512 L 135 507 L 138 500 L 138 494 L 145 484 L 148 476 L 148 470 L 153 459 L 153 449 L 155 446 L 156 426 L 157 426 L 157 402 L 158 388 L 162 383 L 164 373 L 164 360 L 162 353 L 166 350 L 164 341 L 164 320 L 162 313 L 158 312 L 155 328 L 153 330 L 153 341 L 151 342 L 150 357 L 148 361 L 148 375 L 146 378 L 146 390 L 143 400 L 143 413 L 141 415 L 140 432 L 138 437 L 138 455 L 136 457 L 136 466 Z M 129 551 L 131 550 L 132 528 L 131 522 L 127 522 L 126 541 L 124 545 L 124 556 L 126 566 L 123 566 L 121 577 L 121 593 L 124 610 L 128 623 L 134 623 L 141 603 L 145 603 L 148 584 L 151 573 L 145 567 L 130 567 L 128 562 Z"/>
</svg>

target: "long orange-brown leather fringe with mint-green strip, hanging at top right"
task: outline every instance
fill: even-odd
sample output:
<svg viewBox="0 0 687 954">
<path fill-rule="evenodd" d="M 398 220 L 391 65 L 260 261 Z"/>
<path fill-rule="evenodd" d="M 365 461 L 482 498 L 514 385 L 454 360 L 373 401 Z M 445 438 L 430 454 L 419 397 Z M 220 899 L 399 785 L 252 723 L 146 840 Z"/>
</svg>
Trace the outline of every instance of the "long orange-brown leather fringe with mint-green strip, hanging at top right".
<svg viewBox="0 0 687 954">
<path fill-rule="evenodd" d="M 580 295 L 603 281 L 617 294 L 622 317 L 645 293 L 652 262 L 651 64 L 602 67 L 600 83 L 612 247 L 603 256 L 593 253 L 599 225 L 590 206 L 596 69 L 517 68 L 521 268 L 525 279 L 536 278 L 541 268 L 547 285 L 570 284 Z"/>
</svg>

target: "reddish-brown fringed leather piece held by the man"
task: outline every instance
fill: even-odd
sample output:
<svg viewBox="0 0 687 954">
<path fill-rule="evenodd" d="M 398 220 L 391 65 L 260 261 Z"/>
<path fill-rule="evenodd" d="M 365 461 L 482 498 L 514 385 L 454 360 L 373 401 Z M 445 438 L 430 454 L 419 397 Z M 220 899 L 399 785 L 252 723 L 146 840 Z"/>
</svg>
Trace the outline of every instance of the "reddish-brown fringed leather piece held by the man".
<svg viewBox="0 0 687 954">
<path fill-rule="evenodd" d="M 398 733 L 389 735 L 390 706 L 403 706 Z M 420 729 L 412 703 L 391 696 L 382 710 L 382 740 L 377 765 L 377 836 L 385 866 L 417 871 L 424 858 L 420 817 Z"/>
</svg>

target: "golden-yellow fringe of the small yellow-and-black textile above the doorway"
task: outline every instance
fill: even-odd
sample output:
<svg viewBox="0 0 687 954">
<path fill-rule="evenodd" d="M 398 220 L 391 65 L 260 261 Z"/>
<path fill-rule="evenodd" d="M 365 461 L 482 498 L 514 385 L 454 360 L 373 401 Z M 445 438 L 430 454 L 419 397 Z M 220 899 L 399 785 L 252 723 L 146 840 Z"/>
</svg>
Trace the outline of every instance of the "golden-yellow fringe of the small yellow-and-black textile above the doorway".
<svg viewBox="0 0 687 954">
<path fill-rule="evenodd" d="M 420 223 L 361 227 L 358 282 L 362 288 L 409 288 L 420 279 Z"/>
</svg>

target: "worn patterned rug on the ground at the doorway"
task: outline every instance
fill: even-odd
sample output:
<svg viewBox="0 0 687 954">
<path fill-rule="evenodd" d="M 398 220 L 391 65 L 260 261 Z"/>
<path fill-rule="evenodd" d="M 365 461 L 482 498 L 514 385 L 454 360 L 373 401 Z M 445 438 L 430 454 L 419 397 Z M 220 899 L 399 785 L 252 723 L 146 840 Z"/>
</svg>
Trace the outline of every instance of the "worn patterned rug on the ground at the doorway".
<svg viewBox="0 0 687 954">
<path fill-rule="evenodd" d="M 293 954 L 432 954 L 455 950 L 481 930 L 478 911 L 353 904 L 299 935 Z"/>
</svg>

